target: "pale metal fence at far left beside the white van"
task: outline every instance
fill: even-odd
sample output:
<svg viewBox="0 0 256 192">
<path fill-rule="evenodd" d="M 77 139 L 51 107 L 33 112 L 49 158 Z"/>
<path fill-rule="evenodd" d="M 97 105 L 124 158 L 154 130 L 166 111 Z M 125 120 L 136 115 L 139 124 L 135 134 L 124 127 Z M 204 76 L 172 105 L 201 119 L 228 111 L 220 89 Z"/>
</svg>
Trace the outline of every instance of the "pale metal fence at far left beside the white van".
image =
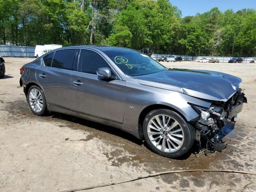
<svg viewBox="0 0 256 192">
<path fill-rule="evenodd" d="M 0 45 L 0 56 L 6 57 L 34 57 L 36 47 Z"/>
</svg>

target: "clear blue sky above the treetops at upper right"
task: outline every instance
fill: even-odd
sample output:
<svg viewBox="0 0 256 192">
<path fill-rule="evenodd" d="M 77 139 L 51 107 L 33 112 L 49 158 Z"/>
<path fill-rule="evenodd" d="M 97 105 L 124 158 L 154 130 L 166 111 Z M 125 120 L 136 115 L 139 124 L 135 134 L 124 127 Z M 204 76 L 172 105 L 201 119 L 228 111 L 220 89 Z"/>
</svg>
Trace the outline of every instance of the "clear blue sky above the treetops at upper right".
<svg viewBox="0 0 256 192">
<path fill-rule="evenodd" d="M 172 5 L 182 11 L 182 17 L 194 16 L 196 13 L 204 13 L 214 7 L 224 12 L 233 9 L 234 12 L 243 8 L 256 9 L 256 0 L 169 0 Z"/>
</svg>

